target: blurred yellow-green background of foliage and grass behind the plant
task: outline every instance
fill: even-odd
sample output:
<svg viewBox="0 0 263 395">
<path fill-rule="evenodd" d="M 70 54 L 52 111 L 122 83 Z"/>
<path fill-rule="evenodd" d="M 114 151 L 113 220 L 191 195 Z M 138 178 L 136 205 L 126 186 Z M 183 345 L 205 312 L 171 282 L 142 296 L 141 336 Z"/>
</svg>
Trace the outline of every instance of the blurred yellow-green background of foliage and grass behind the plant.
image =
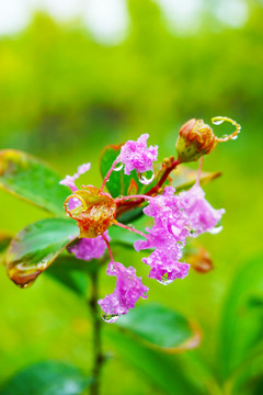
<svg viewBox="0 0 263 395">
<path fill-rule="evenodd" d="M 114 40 L 95 35 L 77 16 L 61 21 L 43 11 L 32 13 L 22 31 L 0 36 L 1 148 L 34 154 L 61 178 L 91 161 L 83 179 L 100 185 L 102 148 L 141 133 L 159 145 L 160 160 L 174 155 L 179 127 L 191 117 L 209 123 L 225 115 L 242 125 L 236 142 L 219 145 L 204 161 L 204 170 L 222 171 L 206 193 L 213 206 L 226 208 L 224 230 L 201 237 L 214 270 L 192 270 L 184 281 L 162 286 L 147 279 L 140 255 L 122 251 L 123 262 L 133 263 L 150 287 L 148 301 L 199 323 L 198 353 L 214 372 L 224 297 L 240 264 L 261 250 L 263 222 L 263 3 L 243 1 L 245 18 L 237 24 L 238 11 L 218 13 L 222 3 L 204 2 L 194 18 L 176 24 L 159 2 L 130 0 L 127 29 Z M 215 126 L 218 135 L 225 131 Z M 46 216 L 2 191 L 0 204 L 0 230 L 12 234 Z M 84 304 L 45 274 L 24 291 L 4 268 L 0 279 L 0 381 L 47 358 L 91 364 Z M 113 286 L 103 274 L 101 296 Z M 106 342 L 105 351 L 114 346 Z M 116 354 L 103 370 L 103 393 L 151 394 L 144 379 Z"/>
</svg>

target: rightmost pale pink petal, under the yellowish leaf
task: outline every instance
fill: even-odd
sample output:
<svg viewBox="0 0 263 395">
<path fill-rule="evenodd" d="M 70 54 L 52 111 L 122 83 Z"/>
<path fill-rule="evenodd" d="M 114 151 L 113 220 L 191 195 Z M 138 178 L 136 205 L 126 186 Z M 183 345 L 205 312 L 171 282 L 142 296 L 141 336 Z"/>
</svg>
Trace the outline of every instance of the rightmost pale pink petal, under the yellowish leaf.
<svg viewBox="0 0 263 395">
<path fill-rule="evenodd" d="M 188 191 L 181 192 L 180 201 L 184 205 L 184 212 L 187 215 L 193 229 L 192 237 L 196 237 L 204 232 L 218 233 L 221 227 L 216 227 L 225 213 L 224 208 L 215 210 L 205 200 L 205 192 L 195 184 Z"/>
</svg>

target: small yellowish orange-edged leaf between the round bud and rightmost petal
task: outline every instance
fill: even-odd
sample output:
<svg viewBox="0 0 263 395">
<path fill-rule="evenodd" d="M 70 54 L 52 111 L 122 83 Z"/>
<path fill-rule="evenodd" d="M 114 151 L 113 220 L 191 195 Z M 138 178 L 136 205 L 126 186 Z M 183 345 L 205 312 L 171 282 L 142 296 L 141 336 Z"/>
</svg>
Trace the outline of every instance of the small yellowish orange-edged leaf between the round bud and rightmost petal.
<svg viewBox="0 0 263 395">
<path fill-rule="evenodd" d="M 199 183 L 202 187 L 204 187 L 220 176 L 221 176 L 220 171 L 217 172 L 202 171 Z M 194 185 L 197 178 L 197 170 L 193 170 L 187 168 L 186 166 L 181 165 L 179 166 L 178 169 L 173 170 L 170 173 L 170 177 L 172 178 L 172 187 L 175 188 L 176 193 L 180 193 L 182 191 L 187 191 Z"/>
</svg>

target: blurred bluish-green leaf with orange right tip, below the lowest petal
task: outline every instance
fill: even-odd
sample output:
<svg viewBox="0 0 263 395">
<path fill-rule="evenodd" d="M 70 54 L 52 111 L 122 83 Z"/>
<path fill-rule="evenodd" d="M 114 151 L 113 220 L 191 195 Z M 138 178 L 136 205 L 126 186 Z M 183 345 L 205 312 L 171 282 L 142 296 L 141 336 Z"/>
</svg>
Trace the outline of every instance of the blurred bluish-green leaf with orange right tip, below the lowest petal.
<svg viewBox="0 0 263 395">
<path fill-rule="evenodd" d="M 163 351 L 178 352 L 197 347 L 201 334 L 182 314 L 160 304 L 136 307 L 117 321 L 122 328 Z"/>
</svg>

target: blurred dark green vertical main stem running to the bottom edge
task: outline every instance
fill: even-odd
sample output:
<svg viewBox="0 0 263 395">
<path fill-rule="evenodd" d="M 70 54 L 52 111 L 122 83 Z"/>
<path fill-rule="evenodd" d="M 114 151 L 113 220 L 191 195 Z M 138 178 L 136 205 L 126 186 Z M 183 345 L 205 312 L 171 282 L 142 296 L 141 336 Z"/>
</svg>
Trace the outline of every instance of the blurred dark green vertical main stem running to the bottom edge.
<svg viewBox="0 0 263 395">
<path fill-rule="evenodd" d="M 92 376 L 93 382 L 90 386 L 91 395 L 100 394 L 100 379 L 101 379 L 101 369 L 104 361 L 102 353 L 102 339 L 101 339 L 101 317 L 100 317 L 100 307 L 98 305 L 99 298 L 99 283 L 98 283 L 99 272 L 94 271 L 91 273 L 91 298 L 90 298 L 90 309 L 93 320 L 93 368 Z"/>
</svg>

